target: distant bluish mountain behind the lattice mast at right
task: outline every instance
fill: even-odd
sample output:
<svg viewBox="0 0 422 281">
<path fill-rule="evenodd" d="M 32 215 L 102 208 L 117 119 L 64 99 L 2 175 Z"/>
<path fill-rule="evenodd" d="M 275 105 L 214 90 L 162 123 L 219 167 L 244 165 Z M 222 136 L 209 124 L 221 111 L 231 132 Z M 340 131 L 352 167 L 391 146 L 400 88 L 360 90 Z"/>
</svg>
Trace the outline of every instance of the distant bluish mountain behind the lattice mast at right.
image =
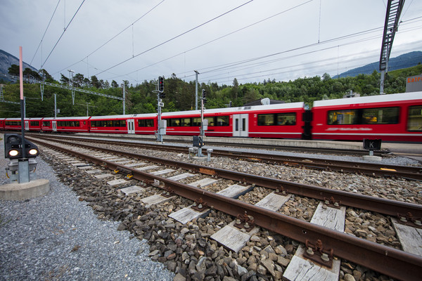
<svg viewBox="0 0 422 281">
<path fill-rule="evenodd" d="M 414 51 L 410 53 L 404 53 L 395 58 L 390 58 L 388 61 L 388 71 L 399 70 L 402 68 L 412 67 L 422 63 L 422 51 Z M 369 65 L 364 65 L 362 67 L 357 67 L 352 70 L 348 70 L 339 74 L 338 77 L 355 77 L 358 74 L 372 74 L 373 70 L 380 72 L 380 63 L 370 63 Z M 337 76 L 335 76 L 337 78 Z"/>
</svg>

